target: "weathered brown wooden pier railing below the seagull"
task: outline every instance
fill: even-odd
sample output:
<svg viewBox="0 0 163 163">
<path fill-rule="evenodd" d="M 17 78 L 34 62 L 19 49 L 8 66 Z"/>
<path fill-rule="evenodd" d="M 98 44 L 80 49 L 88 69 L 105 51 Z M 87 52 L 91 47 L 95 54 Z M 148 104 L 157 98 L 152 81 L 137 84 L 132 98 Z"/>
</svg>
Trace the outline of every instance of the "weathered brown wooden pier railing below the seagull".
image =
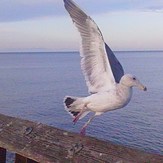
<svg viewBox="0 0 163 163">
<path fill-rule="evenodd" d="M 0 114 L 0 163 L 163 163 L 163 156 Z"/>
</svg>

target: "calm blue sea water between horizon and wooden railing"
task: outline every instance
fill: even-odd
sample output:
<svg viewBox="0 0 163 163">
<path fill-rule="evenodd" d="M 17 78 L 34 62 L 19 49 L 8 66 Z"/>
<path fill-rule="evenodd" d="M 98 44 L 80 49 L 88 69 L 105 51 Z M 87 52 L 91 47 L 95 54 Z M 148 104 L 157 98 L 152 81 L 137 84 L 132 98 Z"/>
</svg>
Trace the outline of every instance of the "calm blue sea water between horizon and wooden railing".
<svg viewBox="0 0 163 163">
<path fill-rule="evenodd" d="M 87 134 L 163 154 L 163 52 L 115 52 L 126 73 L 148 91 L 134 89 L 129 105 L 97 117 Z M 65 95 L 86 96 L 78 53 L 1 53 L 0 113 L 79 132 L 64 110 Z"/>
</svg>

